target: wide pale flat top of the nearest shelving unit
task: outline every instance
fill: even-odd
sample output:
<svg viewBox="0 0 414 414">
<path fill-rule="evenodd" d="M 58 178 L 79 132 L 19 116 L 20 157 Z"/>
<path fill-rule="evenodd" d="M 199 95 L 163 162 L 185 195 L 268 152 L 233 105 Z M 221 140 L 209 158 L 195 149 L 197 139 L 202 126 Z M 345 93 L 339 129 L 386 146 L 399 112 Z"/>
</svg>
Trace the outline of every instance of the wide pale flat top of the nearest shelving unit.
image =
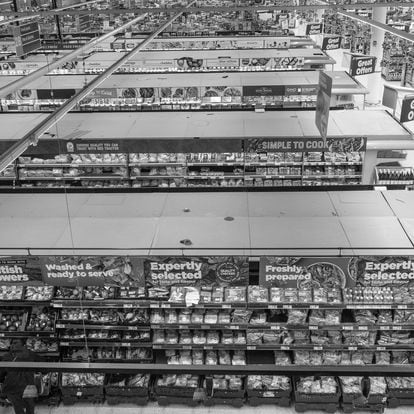
<svg viewBox="0 0 414 414">
<path fill-rule="evenodd" d="M 414 252 L 414 193 L 136 193 L 104 198 L 2 196 L 3 254 L 25 254 L 25 248 L 33 249 L 32 254 L 336 255 L 341 248 L 346 249 L 343 254 Z M 393 203 L 411 209 L 393 210 Z M 192 245 L 183 250 L 184 239 Z M 115 247 L 121 250 L 111 250 Z"/>
</svg>

